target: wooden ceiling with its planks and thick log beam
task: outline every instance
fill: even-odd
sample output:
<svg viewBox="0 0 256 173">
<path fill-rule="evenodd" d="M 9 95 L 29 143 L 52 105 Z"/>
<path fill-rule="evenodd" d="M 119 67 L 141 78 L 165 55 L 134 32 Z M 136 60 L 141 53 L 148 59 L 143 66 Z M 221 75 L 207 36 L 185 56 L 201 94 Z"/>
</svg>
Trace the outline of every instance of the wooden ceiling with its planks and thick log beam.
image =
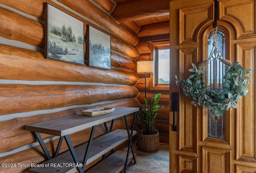
<svg viewBox="0 0 256 173">
<path fill-rule="evenodd" d="M 116 3 L 116 6 L 111 12 L 112 17 L 115 18 L 117 22 L 124 24 L 137 33 L 139 38 L 153 36 L 150 34 L 152 28 L 154 28 L 155 31 L 154 35 L 169 33 L 170 0 L 113 1 Z M 163 33 L 163 31 L 160 31 L 161 29 L 168 30 L 168 33 Z"/>
</svg>

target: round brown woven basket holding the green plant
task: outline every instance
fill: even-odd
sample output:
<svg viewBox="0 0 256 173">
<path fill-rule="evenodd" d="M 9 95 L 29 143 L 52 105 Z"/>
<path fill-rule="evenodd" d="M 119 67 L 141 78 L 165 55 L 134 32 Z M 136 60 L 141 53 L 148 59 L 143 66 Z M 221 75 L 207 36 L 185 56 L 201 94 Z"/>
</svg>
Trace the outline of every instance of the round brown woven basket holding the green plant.
<svg viewBox="0 0 256 173">
<path fill-rule="evenodd" d="M 142 130 L 137 133 L 137 146 L 142 151 L 152 152 L 156 151 L 159 146 L 159 133 L 155 130 L 157 134 L 154 135 L 144 135 Z"/>
</svg>

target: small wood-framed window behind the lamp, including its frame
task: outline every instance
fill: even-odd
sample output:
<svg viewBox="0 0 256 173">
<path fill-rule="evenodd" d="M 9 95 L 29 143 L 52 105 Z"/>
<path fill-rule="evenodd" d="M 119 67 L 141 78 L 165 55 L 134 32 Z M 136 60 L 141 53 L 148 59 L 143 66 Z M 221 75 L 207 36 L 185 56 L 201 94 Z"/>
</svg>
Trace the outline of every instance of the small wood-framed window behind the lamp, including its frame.
<svg viewBox="0 0 256 173">
<path fill-rule="evenodd" d="M 151 75 L 151 90 L 169 90 L 170 86 L 170 41 L 151 42 L 151 59 L 154 74 Z"/>
</svg>

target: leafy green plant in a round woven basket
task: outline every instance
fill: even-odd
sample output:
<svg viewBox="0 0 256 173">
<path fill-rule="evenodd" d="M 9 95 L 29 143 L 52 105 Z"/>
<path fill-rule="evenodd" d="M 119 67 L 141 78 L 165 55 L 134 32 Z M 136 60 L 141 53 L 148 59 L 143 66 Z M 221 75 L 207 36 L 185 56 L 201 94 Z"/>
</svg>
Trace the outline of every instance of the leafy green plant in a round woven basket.
<svg viewBox="0 0 256 173">
<path fill-rule="evenodd" d="M 159 146 L 159 133 L 154 128 L 155 118 L 161 107 L 158 105 L 161 93 L 154 94 L 152 97 L 144 98 L 145 109 L 140 105 L 138 121 L 141 124 L 142 130 L 137 134 L 137 145 L 142 151 L 152 152 L 158 149 Z"/>
</svg>

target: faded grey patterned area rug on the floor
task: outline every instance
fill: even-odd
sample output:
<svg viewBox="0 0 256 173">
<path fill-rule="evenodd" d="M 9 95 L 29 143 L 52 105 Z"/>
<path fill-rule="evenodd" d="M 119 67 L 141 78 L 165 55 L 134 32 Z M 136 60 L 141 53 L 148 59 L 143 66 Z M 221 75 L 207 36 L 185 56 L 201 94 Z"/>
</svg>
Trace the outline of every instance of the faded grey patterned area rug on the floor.
<svg viewBox="0 0 256 173">
<path fill-rule="evenodd" d="M 137 154 L 136 163 L 132 161 L 126 173 L 169 173 L 169 159 Z"/>
</svg>

